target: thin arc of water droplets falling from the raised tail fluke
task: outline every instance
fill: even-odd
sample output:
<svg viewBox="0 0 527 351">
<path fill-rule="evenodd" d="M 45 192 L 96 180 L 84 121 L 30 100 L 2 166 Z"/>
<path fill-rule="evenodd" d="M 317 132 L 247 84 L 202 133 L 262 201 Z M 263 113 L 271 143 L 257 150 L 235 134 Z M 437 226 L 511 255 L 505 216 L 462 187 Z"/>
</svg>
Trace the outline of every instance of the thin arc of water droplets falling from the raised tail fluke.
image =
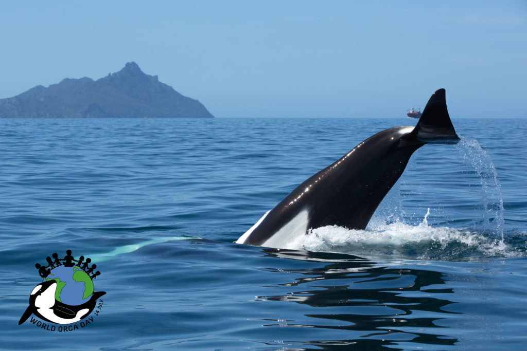
<svg viewBox="0 0 527 351">
<path fill-rule="evenodd" d="M 489 154 L 483 150 L 476 139 L 460 137 L 457 144 L 463 162 L 472 165 L 481 185 L 481 206 L 483 229 L 501 238 L 503 242 L 503 196 L 497 178 L 496 167 Z"/>
</svg>

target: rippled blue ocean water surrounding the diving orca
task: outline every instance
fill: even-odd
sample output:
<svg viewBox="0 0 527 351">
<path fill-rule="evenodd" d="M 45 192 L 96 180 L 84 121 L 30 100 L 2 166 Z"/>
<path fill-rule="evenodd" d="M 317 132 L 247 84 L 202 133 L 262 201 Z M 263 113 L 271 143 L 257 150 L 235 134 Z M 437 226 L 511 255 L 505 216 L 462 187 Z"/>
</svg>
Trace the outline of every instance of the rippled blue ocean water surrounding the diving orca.
<svg viewBox="0 0 527 351">
<path fill-rule="evenodd" d="M 284 249 L 234 242 L 416 121 L 0 119 L 0 348 L 523 349 L 527 121 L 452 115 L 462 142 L 418 149 L 366 230 Z M 18 325 L 35 263 L 67 249 L 101 272 L 91 323 Z"/>
</svg>

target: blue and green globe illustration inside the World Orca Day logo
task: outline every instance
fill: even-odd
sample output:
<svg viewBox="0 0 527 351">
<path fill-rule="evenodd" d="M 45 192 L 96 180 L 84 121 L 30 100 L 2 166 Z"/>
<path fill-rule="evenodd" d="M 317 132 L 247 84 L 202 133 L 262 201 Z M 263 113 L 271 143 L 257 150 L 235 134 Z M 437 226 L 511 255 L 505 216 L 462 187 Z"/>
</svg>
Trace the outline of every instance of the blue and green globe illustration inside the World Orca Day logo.
<svg viewBox="0 0 527 351">
<path fill-rule="evenodd" d="M 90 300 L 93 294 L 93 283 L 90 276 L 79 266 L 55 267 L 45 280 L 56 280 L 55 299 L 66 305 L 82 305 Z"/>
</svg>

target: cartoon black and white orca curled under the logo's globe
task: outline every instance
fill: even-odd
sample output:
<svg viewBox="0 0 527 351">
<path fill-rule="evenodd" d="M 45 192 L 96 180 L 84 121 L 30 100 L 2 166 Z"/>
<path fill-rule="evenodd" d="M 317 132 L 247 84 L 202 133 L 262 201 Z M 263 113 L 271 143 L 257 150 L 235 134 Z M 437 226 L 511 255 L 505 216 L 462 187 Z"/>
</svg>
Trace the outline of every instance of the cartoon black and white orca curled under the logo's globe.
<svg viewBox="0 0 527 351">
<path fill-rule="evenodd" d="M 22 314 L 18 324 L 24 323 L 32 314 L 56 324 L 79 322 L 92 312 L 99 297 L 106 294 L 105 292 L 94 292 L 90 300 L 81 305 L 66 305 L 55 299 L 56 288 L 55 279 L 46 280 L 35 286 L 30 295 L 30 305 Z"/>
</svg>

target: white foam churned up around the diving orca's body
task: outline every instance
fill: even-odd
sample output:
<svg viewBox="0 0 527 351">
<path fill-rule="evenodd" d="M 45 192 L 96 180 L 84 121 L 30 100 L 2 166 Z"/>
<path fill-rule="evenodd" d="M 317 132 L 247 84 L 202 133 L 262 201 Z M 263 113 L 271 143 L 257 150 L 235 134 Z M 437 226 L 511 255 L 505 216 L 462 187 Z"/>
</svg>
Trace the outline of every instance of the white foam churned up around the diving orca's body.
<svg viewBox="0 0 527 351">
<path fill-rule="evenodd" d="M 355 255 L 413 259 L 481 259 L 485 257 L 525 256 L 527 233 L 522 247 L 497 240 L 492 235 L 450 227 L 428 225 L 427 214 L 419 225 L 400 221 L 377 225 L 375 229 L 353 230 L 339 226 L 310 229 L 307 235 L 298 237 L 289 249 L 344 252 Z"/>
</svg>

